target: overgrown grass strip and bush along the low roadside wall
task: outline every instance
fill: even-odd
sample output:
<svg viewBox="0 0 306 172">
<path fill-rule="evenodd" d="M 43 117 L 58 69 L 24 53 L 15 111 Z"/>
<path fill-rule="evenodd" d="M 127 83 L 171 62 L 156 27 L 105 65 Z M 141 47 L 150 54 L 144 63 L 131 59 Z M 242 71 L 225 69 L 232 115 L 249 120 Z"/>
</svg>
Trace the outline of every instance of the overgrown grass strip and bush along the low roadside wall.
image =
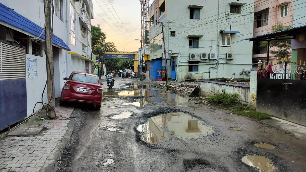
<svg viewBox="0 0 306 172">
<path fill-rule="evenodd" d="M 222 93 L 217 93 L 208 97 L 206 100 L 207 102 L 214 104 L 218 107 L 221 107 L 226 110 L 232 111 L 234 114 L 248 116 L 250 118 L 255 119 L 268 119 L 270 115 L 265 113 L 257 112 L 254 109 L 250 109 L 240 103 L 237 102 L 237 98 L 239 97 L 238 94 L 230 94 L 226 93 L 222 90 Z"/>
</svg>

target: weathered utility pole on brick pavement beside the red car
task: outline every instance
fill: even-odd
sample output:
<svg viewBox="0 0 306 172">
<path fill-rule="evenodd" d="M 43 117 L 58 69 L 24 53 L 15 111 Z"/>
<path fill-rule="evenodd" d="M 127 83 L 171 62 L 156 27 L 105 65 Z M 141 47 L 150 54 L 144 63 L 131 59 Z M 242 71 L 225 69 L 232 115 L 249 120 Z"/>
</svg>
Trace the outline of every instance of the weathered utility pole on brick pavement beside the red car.
<svg viewBox="0 0 306 172">
<path fill-rule="evenodd" d="M 46 28 L 46 64 L 47 64 L 47 94 L 48 94 L 48 116 L 55 118 L 55 96 L 54 96 L 54 69 L 53 69 L 53 50 L 52 50 L 52 20 L 53 15 L 52 0 L 45 0 L 45 28 Z"/>
</svg>

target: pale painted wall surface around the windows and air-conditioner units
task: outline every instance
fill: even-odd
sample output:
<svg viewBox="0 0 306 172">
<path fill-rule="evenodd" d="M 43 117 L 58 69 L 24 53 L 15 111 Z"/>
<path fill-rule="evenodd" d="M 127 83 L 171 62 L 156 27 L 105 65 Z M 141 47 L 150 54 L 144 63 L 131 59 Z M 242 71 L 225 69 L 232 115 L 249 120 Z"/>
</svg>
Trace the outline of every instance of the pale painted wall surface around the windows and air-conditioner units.
<svg viewBox="0 0 306 172">
<path fill-rule="evenodd" d="M 253 3 L 251 0 L 245 0 L 243 2 L 247 4 Z M 239 73 L 242 72 L 242 69 L 250 69 L 252 67 L 252 42 L 241 40 L 253 36 L 254 9 L 252 7 L 247 8 L 249 6 L 242 6 L 241 14 L 232 14 L 224 20 L 222 15 L 230 11 L 230 5 L 228 3 L 225 0 L 220 0 L 219 4 L 218 1 L 166 0 L 166 14 L 164 19 L 162 19 L 162 22 L 166 24 L 166 52 L 176 55 L 179 54 L 179 58 L 176 60 L 178 81 L 186 79 L 189 74 L 193 79 L 231 78 L 233 73 L 235 73 L 235 78 L 249 78 L 249 76 L 239 75 Z M 200 10 L 200 20 L 189 19 L 188 5 L 204 6 Z M 219 9 L 216 9 L 218 5 Z M 223 20 L 213 20 L 217 18 L 216 16 L 218 14 Z M 239 17 L 244 15 L 248 17 Z M 168 21 L 174 23 L 167 23 Z M 210 24 L 205 24 L 206 22 L 210 22 Z M 204 25 L 196 27 L 200 26 L 200 24 Z M 220 30 L 240 32 L 232 34 L 231 47 L 221 47 Z M 171 31 L 176 32 L 175 37 L 170 37 Z M 158 36 L 161 32 L 160 24 L 156 26 L 155 24 L 151 24 L 150 39 Z M 203 35 L 199 42 L 200 48 L 189 48 L 188 35 Z M 229 52 L 234 53 L 233 60 L 226 60 L 226 53 Z M 161 58 L 162 53 L 163 47 L 155 52 L 151 51 L 150 59 Z M 197 53 L 198 56 L 200 56 L 200 53 L 217 53 L 218 60 L 202 60 L 199 62 L 199 72 L 188 72 L 187 59 L 189 59 L 190 53 Z"/>
</svg>

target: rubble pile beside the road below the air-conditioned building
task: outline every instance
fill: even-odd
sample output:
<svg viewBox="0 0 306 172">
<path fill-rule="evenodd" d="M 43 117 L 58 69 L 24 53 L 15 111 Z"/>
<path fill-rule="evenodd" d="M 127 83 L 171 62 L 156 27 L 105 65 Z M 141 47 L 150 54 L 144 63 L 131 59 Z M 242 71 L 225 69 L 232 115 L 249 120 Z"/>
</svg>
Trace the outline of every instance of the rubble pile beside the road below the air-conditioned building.
<svg viewBox="0 0 306 172">
<path fill-rule="evenodd" d="M 166 89 L 166 84 L 160 84 L 157 88 Z M 169 90 L 174 93 L 191 93 L 194 88 L 200 88 L 200 82 L 170 82 Z"/>
</svg>

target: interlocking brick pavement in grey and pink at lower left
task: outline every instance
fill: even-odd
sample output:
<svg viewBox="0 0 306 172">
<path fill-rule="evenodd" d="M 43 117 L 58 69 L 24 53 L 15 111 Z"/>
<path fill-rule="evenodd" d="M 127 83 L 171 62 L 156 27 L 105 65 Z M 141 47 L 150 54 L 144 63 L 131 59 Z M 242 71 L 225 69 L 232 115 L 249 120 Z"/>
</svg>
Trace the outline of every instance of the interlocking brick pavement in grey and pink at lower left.
<svg viewBox="0 0 306 172">
<path fill-rule="evenodd" d="M 43 120 L 45 127 L 38 135 L 6 136 L 0 140 L 0 172 L 5 171 L 42 171 L 44 167 L 53 165 L 57 159 L 57 145 L 64 138 L 68 129 L 67 124 L 73 107 L 55 107 L 60 119 Z M 22 126 L 22 125 L 21 125 Z"/>
</svg>

